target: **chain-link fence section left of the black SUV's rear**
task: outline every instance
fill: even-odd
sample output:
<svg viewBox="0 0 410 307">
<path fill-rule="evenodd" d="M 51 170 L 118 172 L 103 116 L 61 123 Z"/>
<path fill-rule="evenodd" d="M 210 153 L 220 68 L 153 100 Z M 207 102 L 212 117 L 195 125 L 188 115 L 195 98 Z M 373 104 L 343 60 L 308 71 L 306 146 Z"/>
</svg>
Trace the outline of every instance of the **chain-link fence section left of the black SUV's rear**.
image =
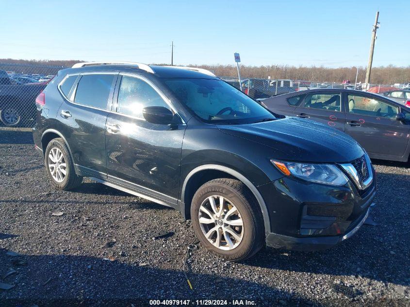
<svg viewBox="0 0 410 307">
<path fill-rule="evenodd" d="M 33 127 L 35 98 L 63 68 L 0 63 L 0 126 Z"/>
</svg>

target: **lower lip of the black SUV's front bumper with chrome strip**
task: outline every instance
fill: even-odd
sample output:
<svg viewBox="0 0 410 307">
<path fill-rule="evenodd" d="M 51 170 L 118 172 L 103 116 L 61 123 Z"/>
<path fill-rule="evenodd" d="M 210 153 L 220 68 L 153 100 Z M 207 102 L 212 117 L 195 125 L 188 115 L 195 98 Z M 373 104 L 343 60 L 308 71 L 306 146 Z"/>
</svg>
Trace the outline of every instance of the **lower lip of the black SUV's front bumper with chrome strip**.
<svg viewBox="0 0 410 307">
<path fill-rule="evenodd" d="M 367 209 L 366 213 L 361 218 L 359 223 L 354 226 L 349 232 L 341 236 L 297 238 L 270 233 L 266 236 L 266 245 L 274 248 L 283 248 L 304 252 L 325 250 L 353 236 L 363 225 L 364 221 L 366 221 L 369 212 L 370 207 Z"/>
</svg>

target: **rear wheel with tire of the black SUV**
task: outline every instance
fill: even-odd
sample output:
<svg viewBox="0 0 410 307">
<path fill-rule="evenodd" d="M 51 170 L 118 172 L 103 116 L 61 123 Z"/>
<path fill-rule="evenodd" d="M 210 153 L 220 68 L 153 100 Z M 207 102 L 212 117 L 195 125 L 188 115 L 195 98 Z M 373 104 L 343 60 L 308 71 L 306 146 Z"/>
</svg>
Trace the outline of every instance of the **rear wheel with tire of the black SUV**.
<svg viewBox="0 0 410 307">
<path fill-rule="evenodd" d="M 59 155 L 59 153 L 61 154 Z M 53 167 L 52 165 L 56 165 L 56 163 L 53 163 L 52 159 L 58 161 L 61 155 L 63 157 L 60 159 L 60 162 L 57 162 L 59 167 Z M 64 163 L 65 167 L 63 166 Z M 75 173 L 73 160 L 66 142 L 62 138 L 52 139 L 49 142 L 44 155 L 44 164 L 52 185 L 57 189 L 72 190 L 82 183 L 82 176 L 78 176 Z M 60 169 L 60 171 L 58 169 Z M 64 174 L 64 171 L 66 174 Z M 53 172 L 53 174 L 51 172 Z"/>
</svg>

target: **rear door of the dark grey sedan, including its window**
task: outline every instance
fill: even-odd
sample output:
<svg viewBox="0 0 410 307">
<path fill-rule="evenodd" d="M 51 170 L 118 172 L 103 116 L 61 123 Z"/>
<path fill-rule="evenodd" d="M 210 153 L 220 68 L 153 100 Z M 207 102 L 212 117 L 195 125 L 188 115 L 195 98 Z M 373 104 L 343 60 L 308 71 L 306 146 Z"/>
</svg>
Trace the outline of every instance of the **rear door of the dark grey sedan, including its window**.
<svg viewBox="0 0 410 307">
<path fill-rule="evenodd" d="M 294 115 L 308 118 L 344 131 L 342 91 L 312 92 L 295 109 Z"/>
</svg>

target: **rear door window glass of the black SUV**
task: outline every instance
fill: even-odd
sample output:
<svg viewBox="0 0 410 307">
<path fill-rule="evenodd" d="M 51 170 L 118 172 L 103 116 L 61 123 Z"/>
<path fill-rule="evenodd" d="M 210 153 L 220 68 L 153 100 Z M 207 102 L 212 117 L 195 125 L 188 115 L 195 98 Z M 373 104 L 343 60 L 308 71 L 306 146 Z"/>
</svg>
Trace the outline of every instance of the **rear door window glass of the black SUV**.
<svg viewBox="0 0 410 307">
<path fill-rule="evenodd" d="M 116 75 L 82 75 L 77 85 L 74 102 L 86 106 L 107 109 L 108 97 Z"/>
</svg>

